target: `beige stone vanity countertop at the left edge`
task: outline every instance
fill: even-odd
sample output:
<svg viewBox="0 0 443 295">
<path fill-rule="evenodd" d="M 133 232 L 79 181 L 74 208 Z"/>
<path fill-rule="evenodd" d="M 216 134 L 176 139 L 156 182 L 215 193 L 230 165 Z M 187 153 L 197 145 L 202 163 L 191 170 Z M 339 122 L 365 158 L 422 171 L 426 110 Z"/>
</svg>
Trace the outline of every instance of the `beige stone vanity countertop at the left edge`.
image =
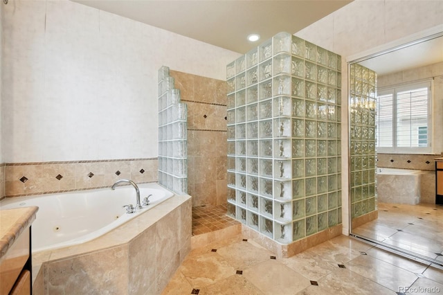
<svg viewBox="0 0 443 295">
<path fill-rule="evenodd" d="M 6 209 L 0 211 L 0 258 L 12 246 L 15 239 L 35 220 L 39 207 Z"/>
</svg>

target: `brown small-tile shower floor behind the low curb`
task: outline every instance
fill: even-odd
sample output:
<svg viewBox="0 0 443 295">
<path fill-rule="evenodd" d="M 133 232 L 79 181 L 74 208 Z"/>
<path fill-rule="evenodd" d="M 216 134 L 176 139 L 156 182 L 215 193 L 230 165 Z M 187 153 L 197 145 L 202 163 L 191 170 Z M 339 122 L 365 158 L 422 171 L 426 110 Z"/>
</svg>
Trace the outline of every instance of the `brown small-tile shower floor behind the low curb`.
<svg viewBox="0 0 443 295">
<path fill-rule="evenodd" d="M 201 235 L 239 224 L 226 215 L 227 205 L 192 207 L 192 235 Z"/>
</svg>

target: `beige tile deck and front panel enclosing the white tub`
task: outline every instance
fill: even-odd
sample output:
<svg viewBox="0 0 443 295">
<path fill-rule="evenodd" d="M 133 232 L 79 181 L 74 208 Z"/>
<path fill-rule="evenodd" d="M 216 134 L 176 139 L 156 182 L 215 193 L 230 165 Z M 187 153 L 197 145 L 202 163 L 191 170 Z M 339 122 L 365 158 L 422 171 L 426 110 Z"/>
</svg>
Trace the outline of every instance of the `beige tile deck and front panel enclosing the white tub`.
<svg viewBox="0 0 443 295">
<path fill-rule="evenodd" d="M 191 209 L 174 195 L 96 240 L 35 253 L 35 294 L 160 294 L 190 251 Z"/>
</svg>

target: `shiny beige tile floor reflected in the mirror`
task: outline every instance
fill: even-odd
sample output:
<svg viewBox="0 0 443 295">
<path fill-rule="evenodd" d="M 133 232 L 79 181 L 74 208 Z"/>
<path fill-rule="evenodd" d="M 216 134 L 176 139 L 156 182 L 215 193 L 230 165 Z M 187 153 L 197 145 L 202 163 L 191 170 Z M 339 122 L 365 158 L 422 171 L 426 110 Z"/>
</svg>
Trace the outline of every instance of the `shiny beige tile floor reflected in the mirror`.
<svg viewBox="0 0 443 295">
<path fill-rule="evenodd" d="M 379 217 L 352 233 L 443 262 L 443 206 L 378 204 Z"/>
</svg>

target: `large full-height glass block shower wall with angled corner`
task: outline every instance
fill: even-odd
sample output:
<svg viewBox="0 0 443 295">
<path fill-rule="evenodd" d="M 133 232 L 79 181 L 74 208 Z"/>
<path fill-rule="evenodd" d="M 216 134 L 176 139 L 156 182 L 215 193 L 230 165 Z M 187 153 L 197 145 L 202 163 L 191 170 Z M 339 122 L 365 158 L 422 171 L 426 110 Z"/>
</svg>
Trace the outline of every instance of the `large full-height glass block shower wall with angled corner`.
<svg viewBox="0 0 443 295">
<path fill-rule="evenodd" d="M 227 66 L 228 215 L 289 244 L 341 223 L 341 57 L 279 33 Z"/>
</svg>

